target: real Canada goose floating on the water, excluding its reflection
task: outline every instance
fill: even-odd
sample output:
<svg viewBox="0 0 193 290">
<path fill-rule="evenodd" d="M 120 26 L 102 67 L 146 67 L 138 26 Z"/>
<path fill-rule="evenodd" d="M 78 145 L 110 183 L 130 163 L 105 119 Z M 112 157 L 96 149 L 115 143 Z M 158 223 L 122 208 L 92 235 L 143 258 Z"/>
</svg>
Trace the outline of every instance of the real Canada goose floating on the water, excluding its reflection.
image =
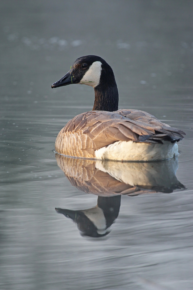
<svg viewBox="0 0 193 290">
<path fill-rule="evenodd" d="M 57 153 L 100 160 L 164 160 L 178 155 L 177 142 L 185 133 L 150 113 L 118 110 L 118 90 L 112 68 L 104 59 L 87 55 L 52 88 L 86 84 L 95 90 L 93 110 L 82 113 L 60 131 Z"/>
</svg>

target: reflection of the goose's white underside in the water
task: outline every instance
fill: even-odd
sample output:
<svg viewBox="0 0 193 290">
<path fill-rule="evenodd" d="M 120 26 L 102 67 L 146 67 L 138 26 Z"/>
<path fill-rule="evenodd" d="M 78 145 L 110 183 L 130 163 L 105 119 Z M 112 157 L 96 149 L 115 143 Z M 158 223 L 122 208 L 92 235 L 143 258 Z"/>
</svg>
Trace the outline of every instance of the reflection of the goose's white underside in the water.
<svg viewBox="0 0 193 290">
<path fill-rule="evenodd" d="M 178 184 L 177 158 L 166 162 L 116 162 L 97 160 L 95 168 L 131 186 L 165 186 Z"/>
</svg>

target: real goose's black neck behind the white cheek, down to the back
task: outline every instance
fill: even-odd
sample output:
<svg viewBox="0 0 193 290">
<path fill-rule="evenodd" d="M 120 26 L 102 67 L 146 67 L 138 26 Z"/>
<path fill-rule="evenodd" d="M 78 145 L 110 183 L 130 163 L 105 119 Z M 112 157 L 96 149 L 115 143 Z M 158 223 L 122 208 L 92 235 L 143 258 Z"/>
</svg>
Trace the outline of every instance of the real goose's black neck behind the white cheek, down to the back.
<svg viewBox="0 0 193 290">
<path fill-rule="evenodd" d="M 100 84 L 95 88 L 95 102 L 93 110 L 116 111 L 118 110 L 119 94 L 112 68 L 105 63 L 102 66 Z"/>
</svg>

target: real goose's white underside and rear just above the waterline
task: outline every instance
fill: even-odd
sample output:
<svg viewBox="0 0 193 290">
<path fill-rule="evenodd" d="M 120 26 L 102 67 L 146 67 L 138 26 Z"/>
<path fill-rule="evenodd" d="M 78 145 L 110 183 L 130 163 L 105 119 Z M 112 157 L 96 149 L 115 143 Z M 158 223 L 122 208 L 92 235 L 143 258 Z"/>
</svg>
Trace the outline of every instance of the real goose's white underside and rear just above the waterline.
<svg viewBox="0 0 193 290">
<path fill-rule="evenodd" d="M 163 144 L 117 141 L 95 150 L 95 158 L 100 160 L 152 161 L 177 155 L 178 145 L 169 141 L 163 141 Z"/>
</svg>

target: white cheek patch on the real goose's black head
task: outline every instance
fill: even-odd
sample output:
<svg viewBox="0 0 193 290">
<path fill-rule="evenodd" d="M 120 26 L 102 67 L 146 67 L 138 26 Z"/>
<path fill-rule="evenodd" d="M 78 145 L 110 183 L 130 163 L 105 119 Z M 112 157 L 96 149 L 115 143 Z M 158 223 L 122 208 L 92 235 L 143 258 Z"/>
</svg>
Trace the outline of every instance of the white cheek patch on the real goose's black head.
<svg viewBox="0 0 193 290">
<path fill-rule="evenodd" d="M 102 63 L 100 61 L 95 61 L 89 67 L 89 70 L 85 73 L 79 84 L 88 85 L 91 87 L 96 87 L 100 83 L 101 67 Z"/>
</svg>

